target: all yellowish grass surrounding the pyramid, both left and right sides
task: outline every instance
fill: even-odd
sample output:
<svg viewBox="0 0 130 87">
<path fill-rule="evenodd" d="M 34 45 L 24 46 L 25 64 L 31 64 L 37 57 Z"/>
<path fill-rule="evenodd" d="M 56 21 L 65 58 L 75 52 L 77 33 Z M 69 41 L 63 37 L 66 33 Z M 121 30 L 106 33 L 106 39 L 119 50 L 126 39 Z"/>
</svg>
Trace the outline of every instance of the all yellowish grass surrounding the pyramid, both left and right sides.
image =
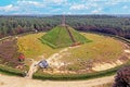
<svg viewBox="0 0 130 87">
<path fill-rule="evenodd" d="M 112 37 L 106 37 L 96 34 L 80 33 L 92 42 L 80 45 L 77 48 L 69 49 L 67 53 L 63 55 L 61 61 L 73 62 L 67 69 L 80 70 L 86 69 L 83 65 L 86 63 L 103 62 L 103 61 L 114 61 L 119 58 L 123 50 L 125 45 L 119 40 Z M 30 34 L 17 39 L 17 46 L 20 52 L 23 52 L 26 58 L 34 58 L 38 60 L 38 55 L 44 55 L 47 59 L 53 54 L 64 49 L 52 49 L 46 44 L 42 44 L 38 38 L 40 38 L 44 33 Z"/>
</svg>

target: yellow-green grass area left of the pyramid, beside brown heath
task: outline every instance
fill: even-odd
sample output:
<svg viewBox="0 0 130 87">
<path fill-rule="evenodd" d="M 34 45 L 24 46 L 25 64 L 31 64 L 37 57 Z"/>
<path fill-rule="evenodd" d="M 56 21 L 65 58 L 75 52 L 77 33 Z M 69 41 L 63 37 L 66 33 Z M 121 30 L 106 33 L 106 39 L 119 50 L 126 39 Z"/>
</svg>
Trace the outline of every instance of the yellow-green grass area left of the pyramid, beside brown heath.
<svg viewBox="0 0 130 87">
<path fill-rule="evenodd" d="M 18 51 L 24 53 L 26 58 L 38 59 L 38 55 L 49 55 L 57 52 L 61 49 L 52 49 L 51 47 L 43 45 L 38 38 L 44 33 L 30 34 L 22 36 L 17 39 Z"/>
</svg>

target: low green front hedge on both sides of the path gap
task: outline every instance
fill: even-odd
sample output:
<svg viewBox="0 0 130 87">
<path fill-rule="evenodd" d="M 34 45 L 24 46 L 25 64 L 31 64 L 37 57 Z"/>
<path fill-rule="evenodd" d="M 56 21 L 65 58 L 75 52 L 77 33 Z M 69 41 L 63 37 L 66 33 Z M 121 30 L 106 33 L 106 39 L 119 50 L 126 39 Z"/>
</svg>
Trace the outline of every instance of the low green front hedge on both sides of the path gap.
<svg viewBox="0 0 130 87">
<path fill-rule="evenodd" d="M 34 78 L 36 79 L 50 79 L 50 80 L 78 80 L 78 79 L 90 79 L 90 78 L 98 78 L 103 76 L 109 76 L 114 75 L 121 66 L 123 65 L 130 65 L 130 61 L 126 64 L 106 70 L 101 72 L 94 72 L 94 73 L 87 73 L 87 74 L 46 74 L 46 73 L 36 73 L 34 74 Z M 0 72 L 8 74 L 8 75 L 16 75 L 16 76 L 23 76 L 23 72 L 20 70 L 15 70 L 5 65 L 0 65 Z"/>
</svg>

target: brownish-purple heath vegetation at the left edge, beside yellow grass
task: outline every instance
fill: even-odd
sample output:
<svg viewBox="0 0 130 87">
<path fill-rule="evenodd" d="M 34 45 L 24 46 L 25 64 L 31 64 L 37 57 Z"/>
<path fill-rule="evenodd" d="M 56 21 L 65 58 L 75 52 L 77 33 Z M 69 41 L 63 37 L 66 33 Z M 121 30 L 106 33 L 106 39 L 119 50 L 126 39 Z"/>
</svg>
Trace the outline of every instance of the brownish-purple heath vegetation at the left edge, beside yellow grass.
<svg viewBox="0 0 130 87">
<path fill-rule="evenodd" d="M 18 65 L 16 39 L 9 38 L 0 44 L 0 63 L 15 66 Z"/>
</svg>

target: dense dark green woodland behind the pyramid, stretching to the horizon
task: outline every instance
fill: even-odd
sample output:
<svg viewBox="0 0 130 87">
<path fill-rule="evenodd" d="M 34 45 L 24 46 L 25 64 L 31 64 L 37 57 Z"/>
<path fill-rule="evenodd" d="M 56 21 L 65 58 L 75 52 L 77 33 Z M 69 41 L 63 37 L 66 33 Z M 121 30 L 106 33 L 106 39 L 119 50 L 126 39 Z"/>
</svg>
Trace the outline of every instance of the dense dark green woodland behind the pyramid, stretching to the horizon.
<svg viewBox="0 0 130 87">
<path fill-rule="evenodd" d="M 0 15 L 0 38 L 28 32 L 47 32 L 61 24 L 62 15 Z M 130 17 L 117 15 L 66 15 L 77 30 L 100 32 L 130 39 Z"/>
</svg>

